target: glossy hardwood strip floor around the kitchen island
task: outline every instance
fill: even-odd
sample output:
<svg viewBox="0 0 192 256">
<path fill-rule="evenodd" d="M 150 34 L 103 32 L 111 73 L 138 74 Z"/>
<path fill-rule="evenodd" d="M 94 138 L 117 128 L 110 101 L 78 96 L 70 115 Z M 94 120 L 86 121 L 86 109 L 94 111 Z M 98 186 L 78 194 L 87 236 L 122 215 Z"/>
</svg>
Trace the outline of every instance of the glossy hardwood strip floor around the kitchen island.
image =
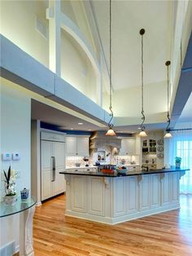
<svg viewBox="0 0 192 256">
<path fill-rule="evenodd" d="M 110 226 L 65 217 L 65 196 L 37 207 L 33 222 L 35 256 L 191 256 L 192 196 L 181 209 Z"/>
</svg>

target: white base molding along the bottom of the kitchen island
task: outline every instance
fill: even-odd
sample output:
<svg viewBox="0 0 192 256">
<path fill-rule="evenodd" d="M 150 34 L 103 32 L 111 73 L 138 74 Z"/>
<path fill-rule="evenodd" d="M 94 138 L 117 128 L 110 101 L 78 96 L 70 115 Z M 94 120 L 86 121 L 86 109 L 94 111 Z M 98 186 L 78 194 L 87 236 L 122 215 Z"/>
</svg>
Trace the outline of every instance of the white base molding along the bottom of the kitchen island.
<svg viewBox="0 0 192 256">
<path fill-rule="evenodd" d="M 105 223 L 105 224 L 109 224 L 109 225 L 115 225 L 118 223 L 124 223 L 126 221 L 130 221 L 130 220 L 133 220 L 136 218 L 143 218 L 143 217 L 150 216 L 153 214 L 160 214 L 160 213 L 166 212 L 168 210 L 176 210 L 179 208 L 180 208 L 180 204 L 168 205 L 168 206 L 161 207 L 161 209 L 152 209 L 152 210 L 147 210 L 145 212 L 137 212 L 136 214 L 126 214 L 124 216 L 114 217 L 114 218 L 95 216 L 95 215 L 91 215 L 91 214 L 76 213 L 76 212 L 72 212 L 71 210 L 66 210 L 65 215 L 68 217 L 88 219 L 90 221 L 94 221 L 97 223 Z"/>
</svg>

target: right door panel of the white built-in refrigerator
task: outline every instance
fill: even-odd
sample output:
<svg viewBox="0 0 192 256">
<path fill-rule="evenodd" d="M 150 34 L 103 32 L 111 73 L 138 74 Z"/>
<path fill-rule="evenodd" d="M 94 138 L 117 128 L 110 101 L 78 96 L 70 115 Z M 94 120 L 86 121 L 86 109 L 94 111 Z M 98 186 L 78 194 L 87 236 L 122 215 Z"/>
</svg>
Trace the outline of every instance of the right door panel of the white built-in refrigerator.
<svg viewBox="0 0 192 256">
<path fill-rule="evenodd" d="M 54 142 L 53 151 L 55 157 L 55 181 L 53 182 L 53 196 L 59 193 L 65 192 L 66 182 L 63 174 L 59 174 L 60 171 L 64 170 L 65 163 L 65 145 L 64 143 Z"/>
</svg>

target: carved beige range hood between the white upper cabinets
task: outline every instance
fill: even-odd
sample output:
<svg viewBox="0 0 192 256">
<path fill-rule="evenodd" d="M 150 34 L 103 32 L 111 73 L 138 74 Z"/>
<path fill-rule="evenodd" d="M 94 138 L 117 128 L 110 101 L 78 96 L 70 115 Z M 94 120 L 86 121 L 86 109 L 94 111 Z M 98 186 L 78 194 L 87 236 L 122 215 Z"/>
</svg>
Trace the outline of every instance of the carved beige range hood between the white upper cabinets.
<svg viewBox="0 0 192 256">
<path fill-rule="evenodd" d="M 118 139 L 116 136 L 106 136 L 106 131 L 103 130 L 95 131 L 90 137 L 89 148 L 97 149 L 104 147 L 120 149 L 121 139 Z"/>
</svg>

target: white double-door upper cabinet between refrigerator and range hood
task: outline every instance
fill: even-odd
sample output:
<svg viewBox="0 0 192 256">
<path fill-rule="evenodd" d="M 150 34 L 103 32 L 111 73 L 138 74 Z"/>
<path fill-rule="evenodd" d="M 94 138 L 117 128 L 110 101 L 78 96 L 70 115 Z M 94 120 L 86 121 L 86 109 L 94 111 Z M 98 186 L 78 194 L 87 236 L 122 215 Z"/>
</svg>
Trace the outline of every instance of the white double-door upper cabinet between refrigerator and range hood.
<svg viewBox="0 0 192 256">
<path fill-rule="evenodd" d="M 66 137 L 67 156 L 89 156 L 89 138 L 88 137 Z"/>
</svg>

